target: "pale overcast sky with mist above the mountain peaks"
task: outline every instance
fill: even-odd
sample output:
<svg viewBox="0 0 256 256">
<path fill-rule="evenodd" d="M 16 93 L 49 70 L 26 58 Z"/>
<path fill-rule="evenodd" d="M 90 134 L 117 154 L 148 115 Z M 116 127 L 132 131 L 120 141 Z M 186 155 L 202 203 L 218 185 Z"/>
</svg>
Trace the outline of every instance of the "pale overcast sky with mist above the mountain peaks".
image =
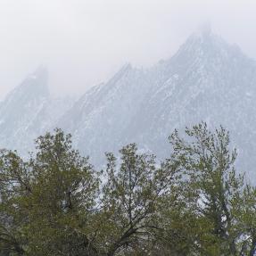
<svg viewBox="0 0 256 256">
<path fill-rule="evenodd" d="M 254 0 L 0 0 L 0 99 L 40 64 L 54 95 L 169 58 L 197 27 L 256 59 Z"/>
</svg>

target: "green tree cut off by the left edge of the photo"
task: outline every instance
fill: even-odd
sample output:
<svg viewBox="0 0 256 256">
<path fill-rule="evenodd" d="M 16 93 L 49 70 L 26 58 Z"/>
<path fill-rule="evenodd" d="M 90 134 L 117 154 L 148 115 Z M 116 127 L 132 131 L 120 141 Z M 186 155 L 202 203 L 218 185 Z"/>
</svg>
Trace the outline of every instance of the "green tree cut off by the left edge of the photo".
<svg viewBox="0 0 256 256">
<path fill-rule="evenodd" d="M 30 193 L 27 165 L 15 152 L 0 154 L 0 252 L 24 255 L 21 223 L 28 223 L 21 199 Z"/>
</svg>

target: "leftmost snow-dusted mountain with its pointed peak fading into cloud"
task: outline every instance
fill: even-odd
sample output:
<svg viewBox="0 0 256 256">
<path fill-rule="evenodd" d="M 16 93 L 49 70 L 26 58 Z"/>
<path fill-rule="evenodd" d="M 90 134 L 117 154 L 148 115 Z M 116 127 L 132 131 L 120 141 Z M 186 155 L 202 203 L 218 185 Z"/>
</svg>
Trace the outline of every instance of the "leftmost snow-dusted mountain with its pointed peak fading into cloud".
<svg viewBox="0 0 256 256">
<path fill-rule="evenodd" d="M 39 67 L 0 104 L 0 148 L 27 155 L 34 139 L 51 129 L 67 110 L 69 102 L 51 99 L 47 80 L 46 68 Z"/>
</svg>

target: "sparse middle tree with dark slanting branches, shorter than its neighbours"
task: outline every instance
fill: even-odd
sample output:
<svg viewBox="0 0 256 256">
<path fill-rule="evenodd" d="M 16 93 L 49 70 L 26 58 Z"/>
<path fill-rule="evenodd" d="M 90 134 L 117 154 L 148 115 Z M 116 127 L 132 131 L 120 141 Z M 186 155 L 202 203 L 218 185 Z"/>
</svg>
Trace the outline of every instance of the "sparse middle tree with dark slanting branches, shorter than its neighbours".
<svg viewBox="0 0 256 256">
<path fill-rule="evenodd" d="M 170 193 L 176 167 L 156 167 L 155 157 L 137 153 L 135 144 L 120 150 L 121 162 L 112 153 L 107 154 L 106 183 L 103 186 L 103 212 L 108 223 L 105 236 L 106 255 L 140 250 L 145 241 L 152 241 L 158 226 L 161 199 Z M 148 243 L 147 245 L 149 245 Z M 124 253 L 124 252 L 123 252 Z"/>
</svg>

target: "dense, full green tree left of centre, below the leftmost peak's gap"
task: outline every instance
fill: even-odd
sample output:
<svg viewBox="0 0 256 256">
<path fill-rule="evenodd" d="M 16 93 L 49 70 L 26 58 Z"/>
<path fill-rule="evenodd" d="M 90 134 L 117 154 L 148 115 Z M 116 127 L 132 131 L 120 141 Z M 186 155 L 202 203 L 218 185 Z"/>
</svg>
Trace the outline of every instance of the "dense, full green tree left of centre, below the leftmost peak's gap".
<svg viewBox="0 0 256 256">
<path fill-rule="evenodd" d="M 56 129 L 38 137 L 29 167 L 32 193 L 23 205 L 29 209 L 28 254 L 94 255 L 90 221 L 99 179 L 87 158 L 72 149 L 70 135 Z"/>
</svg>

